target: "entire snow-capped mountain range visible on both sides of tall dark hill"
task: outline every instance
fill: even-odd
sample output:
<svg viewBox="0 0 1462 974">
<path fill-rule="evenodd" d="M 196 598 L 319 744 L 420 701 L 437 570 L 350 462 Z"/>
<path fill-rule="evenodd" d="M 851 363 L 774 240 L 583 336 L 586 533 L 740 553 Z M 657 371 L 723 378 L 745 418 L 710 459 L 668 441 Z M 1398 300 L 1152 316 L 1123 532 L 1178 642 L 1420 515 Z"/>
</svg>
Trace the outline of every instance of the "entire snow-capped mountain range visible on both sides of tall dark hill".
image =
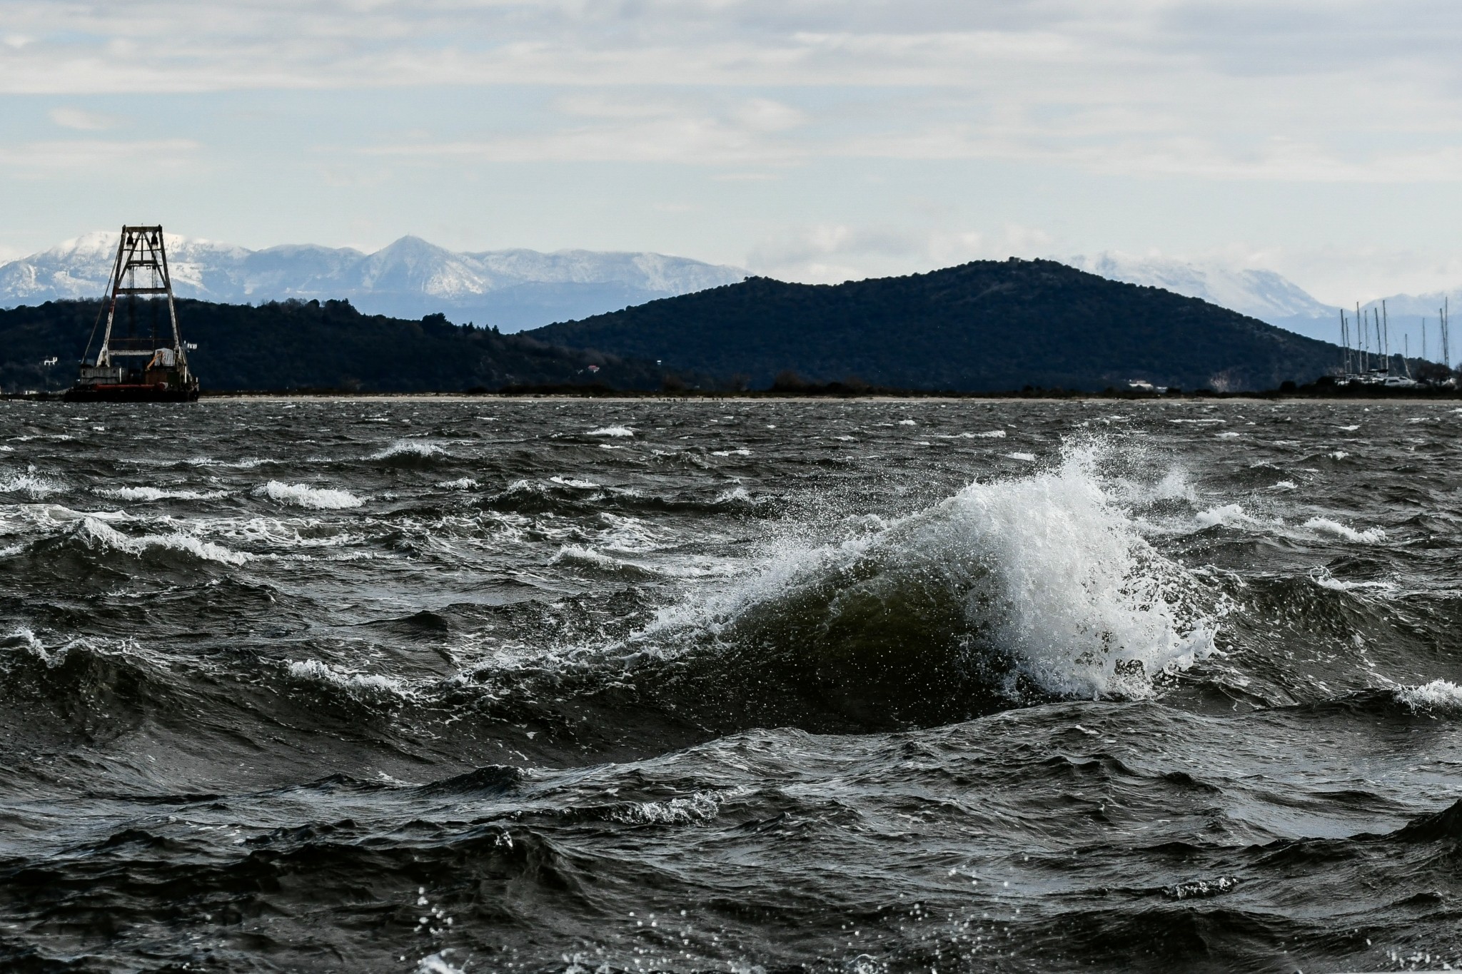
<svg viewBox="0 0 1462 974">
<path fill-rule="evenodd" d="M 98 231 L 47 251 L 0 264 L 0 308 L 67 298 L 96 298 L 105 289 L 117 235 Z M 346 299 L 367 314 L 421 318 L 446 314 L 455 323 L 493 324 L 503 331 L 618 311 L 743 280 L 738 267 L 652 253 L 497 250 L 456 253 L 415 237 L 366 254 L 313 244 L 247 250 L 168 235 L 178 296 L 224 304 Z M 1272 270 L 1102 253 L 1063 260 L 1111 280 L 1162 288 L 1326 342 L 1339 340 L 1339 308 L 1306 294 Z M 1386 298 L 1392 350 L 1437 355 L 1437 308 L 1450 295 Z M 1370 307 L 1379 307 L 1379 301 Z M 1351 308 L 1349 311 L 1354 312 Z M 1453 342 L 1462 358 L 1462 326 Z"/>
</svg>

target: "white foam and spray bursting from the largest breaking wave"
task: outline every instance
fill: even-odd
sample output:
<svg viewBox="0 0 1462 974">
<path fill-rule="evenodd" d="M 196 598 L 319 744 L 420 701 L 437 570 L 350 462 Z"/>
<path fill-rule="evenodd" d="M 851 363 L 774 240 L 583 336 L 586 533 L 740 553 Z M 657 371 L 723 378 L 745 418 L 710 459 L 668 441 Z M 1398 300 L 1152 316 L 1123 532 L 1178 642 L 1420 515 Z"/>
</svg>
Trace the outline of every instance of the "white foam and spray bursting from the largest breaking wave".
<svg viewBox="0 0 1462 974">
<path fill-rule="evenodd" d="M 1056 469 L 971 483 L 836 545 L 788 540 L 762 571 L 667 610 L 636 641 L 740 638 L 744 626 L 763 640 L 756 626 L 782 618 L 836 629 L 874 606 L 880 626 L 898 616 L 912 640 L 933 612 L 963 621 L 961 651 L 1003 656 L 1047 692 L 1148 695 L 1159 672 L 1212 653 L 1218 600 L 1142 539 L 1098 478 L 1096 453 L 1067 448 Z"/>
</svg>

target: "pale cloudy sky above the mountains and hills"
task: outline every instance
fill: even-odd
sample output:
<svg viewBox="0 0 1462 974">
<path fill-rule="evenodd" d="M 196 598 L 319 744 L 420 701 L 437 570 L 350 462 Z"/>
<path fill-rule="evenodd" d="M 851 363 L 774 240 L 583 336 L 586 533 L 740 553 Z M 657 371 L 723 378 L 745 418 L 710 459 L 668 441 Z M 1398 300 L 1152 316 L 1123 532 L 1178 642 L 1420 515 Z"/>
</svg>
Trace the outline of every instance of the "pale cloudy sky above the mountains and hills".
<svg viewBox="0 0 1462 974">
<path fill-rule="evenodd" d="M 1456 0 L 0 0 L 0 256 L 1114 250 L 1462 283 Z"/>
</svg>

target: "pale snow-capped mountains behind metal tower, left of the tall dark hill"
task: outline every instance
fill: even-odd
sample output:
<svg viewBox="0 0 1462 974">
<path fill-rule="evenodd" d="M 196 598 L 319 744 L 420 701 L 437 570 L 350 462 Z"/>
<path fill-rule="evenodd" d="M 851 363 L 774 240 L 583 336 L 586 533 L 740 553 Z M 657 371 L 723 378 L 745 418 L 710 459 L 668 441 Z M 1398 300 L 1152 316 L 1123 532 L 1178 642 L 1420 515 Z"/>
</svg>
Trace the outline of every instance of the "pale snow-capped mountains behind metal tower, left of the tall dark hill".
<svg viewBox="0 0 1462 974">
<path fill-rule="evenodd" d="M 345 298 L 368 314 L 453 321 L 503 331 L 582 318 L 746 277 L 737 267 L 648 253 L 532 250 L 455 253 L 417 237 L 364 254 L 348 247 L 247 250 L 167 235 L 178 296 L 222 302 Z M 0 264 L 0 307 L 96 298 L 107 288 L 117 234 L 96 231 Z"/>
</svg>

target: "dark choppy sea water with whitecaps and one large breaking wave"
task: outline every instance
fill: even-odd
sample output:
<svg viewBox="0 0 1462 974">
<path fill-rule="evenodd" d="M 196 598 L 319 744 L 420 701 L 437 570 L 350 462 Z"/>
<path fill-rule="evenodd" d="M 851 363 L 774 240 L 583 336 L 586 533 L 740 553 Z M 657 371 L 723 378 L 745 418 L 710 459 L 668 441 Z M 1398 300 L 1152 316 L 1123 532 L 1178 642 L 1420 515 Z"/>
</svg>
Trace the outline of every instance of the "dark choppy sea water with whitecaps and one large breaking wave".
<svg viewBox="0 0 1462 974">
<path fill-rule="evenodd" d="M 1458 965 L 1459 432 L 3 403 L 0 967 Z"/>
</svg>

